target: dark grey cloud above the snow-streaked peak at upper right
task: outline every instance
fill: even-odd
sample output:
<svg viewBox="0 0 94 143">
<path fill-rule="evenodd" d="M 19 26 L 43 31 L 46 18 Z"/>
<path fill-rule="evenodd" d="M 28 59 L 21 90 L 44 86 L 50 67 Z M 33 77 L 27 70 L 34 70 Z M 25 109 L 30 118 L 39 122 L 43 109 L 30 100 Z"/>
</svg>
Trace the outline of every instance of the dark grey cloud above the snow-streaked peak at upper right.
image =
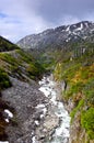
<svg viewBox="0 0 94 143">
<path fill-rule="evenodd" d="M 83 19 L 94 12 L 94 0 L 40 0 L 37 13 L 45 20 L 56 22 L 64 15 Z"/>
</svg>

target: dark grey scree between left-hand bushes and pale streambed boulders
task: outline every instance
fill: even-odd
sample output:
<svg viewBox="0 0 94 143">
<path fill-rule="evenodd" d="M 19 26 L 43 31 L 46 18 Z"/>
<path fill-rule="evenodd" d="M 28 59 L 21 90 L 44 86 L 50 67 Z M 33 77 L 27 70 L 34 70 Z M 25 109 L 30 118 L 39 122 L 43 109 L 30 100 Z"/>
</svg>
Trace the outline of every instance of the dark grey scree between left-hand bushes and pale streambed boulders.
<svg viewBox="0 0 94 143">
<path fill-rule="evenodd" d="M 11 78 L 13 87 L 2 91 L 4 101 L 9 101 L 14 107 L 14 118 L 7 129 L 9 142 L 32 143 L 35 120 L 39 120 L 40 112 L 35 108 L 38 103 L 47 103 L 45 96 L 37 90 L 37 86 L 22 82 Z"/>
</svg>

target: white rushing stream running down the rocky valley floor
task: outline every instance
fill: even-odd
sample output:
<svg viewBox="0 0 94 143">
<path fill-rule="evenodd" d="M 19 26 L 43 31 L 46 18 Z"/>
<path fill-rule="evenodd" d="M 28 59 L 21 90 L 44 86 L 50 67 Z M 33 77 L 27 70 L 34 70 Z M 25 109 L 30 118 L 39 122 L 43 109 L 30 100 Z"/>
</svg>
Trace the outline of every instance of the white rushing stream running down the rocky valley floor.
<svg viewBox="0 0 94 143">
<path fill-rule="evenodd" d="M 55 129 L 51 140 L 48 139 L 45 143 L 68 143 L 70 136 L 70 117 L 68 111 L 64 109 L 63 102 L 58 99 L 56 82 L 50 78 L 50 76 L 44 76 L 39 81 L 39 90 L 49 99 L 49 102 L 51 102 L 55 108 L 55 114 L 59 118 L 59 125 Z"/>
</svg>

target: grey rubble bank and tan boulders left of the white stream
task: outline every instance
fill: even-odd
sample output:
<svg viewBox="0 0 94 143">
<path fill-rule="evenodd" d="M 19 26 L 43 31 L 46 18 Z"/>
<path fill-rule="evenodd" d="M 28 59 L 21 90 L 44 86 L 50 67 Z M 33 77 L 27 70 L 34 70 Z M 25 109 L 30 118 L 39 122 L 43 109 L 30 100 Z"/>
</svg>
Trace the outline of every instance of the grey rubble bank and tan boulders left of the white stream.
<svg viewBox="0 0 94 143">
<path fill-rule="evenodd" d="M 2 91 L 2 99 L 14 109 L 7 128 L 9 142 L 44 143 L 59 124 L 59 118 L 54 113 L 51 103 L 38 90 L 36 82 L 27 84 L 15 78 L 10 80 L 12 87 Z"/>
</svg>

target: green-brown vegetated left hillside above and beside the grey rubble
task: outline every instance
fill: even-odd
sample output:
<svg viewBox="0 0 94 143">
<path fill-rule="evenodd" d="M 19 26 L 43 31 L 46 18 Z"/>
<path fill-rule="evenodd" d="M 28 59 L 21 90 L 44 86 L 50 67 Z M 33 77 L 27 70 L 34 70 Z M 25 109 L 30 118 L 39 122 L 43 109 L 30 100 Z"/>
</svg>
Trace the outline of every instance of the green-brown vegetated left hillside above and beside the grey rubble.
<svg viewBox="0 0 94 143">
<path fill-rule="evenodd" d="M 5 109 L 14 112 L 14 106 L 10 106 L 8 99 L 7 101 L 2 99 L 2 90 L 5 90 L 9 87 L 14 87 L 13 79 L 16 79 L 17 82 L 19 80 L 31 82 L 34 86 L 35 84 L 33 80 L 38 80 L 43 73 L 44 68 L 31 54 L 20 50 L 20 47 L 5 38 L 0 37 L 0 141 L 4 141 L 8 138 L 5 127 L 8 127 L 9 123 L 4 120 L 5 114 L 3 116 L 3 112 Z M 12 121 L 12 123 L 14 121 Z"/>
</svg>

